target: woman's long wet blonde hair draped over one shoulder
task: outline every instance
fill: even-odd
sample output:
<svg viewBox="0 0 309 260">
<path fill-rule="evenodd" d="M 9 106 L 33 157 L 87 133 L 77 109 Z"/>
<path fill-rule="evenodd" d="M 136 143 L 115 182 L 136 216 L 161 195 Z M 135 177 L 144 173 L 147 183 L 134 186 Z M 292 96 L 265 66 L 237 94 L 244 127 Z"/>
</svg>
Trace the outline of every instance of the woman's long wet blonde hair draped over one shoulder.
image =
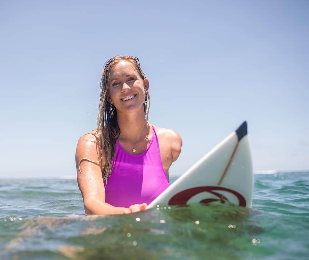
<svg viewBox="0 0 309 260">
<path fill-rule="evenodd" d="M 103 180 L 107 180 L 107 178 L 111 175 L 112 172 L 112 159 L 115 155 L 116 150 L 116 140 L 118 136 L 120 135 L 120 128 L 117 122 L 117 109 L 113 111 L 114 114 L 111 114 L 111 103 L 107 101 L 108 97 L 108 85 L 110 80 L 110 72 L 112 68 L 121 60 L 125 60 L 127 62 L 130 62 L 133 64 L 133 66 L 136 68 L 136 71 L 141 76 L 142 80 L 145 80 L 146 76 L 145 73 L 142 71 L 140 67 L 140 63 L 137 57 L 133 56 L 120 56 L 117 55 L 110 60 L 108 60 L 104 64 L 104 68 L 102 70 L 102 76 L 100 81 L 100 88 L 101 88 L 101 94 L 100 94 L 100 102 L 99 102 L 99 114 L 97 118 L 97 129 L 95 133 L 89 133 L 92 135 L 98 135 L 99 136 L 99 145 L 101 147 L 101 152 L 105 153 L 106 156 L 106 163 L 105 166 L 102 166 L 102 178 Z M 145 111 L 145 119 L 148 121 L 148 114 L 149 114 L 149 108 L 150 108 L 150 95 L 149 91 L 147 89 L 145 101 L 147 101 L 147 105 L 144 104 L 144 111 Z M 91 141 L 98 143 L 96 141 Z M 93 162 L 93 163 L 100 163 L 102 160 L 102 155 L 99 155 L 99 161 L 91 161 L 89 159 L 83 158 L 87 161 Z M 82 160 L 83 160 L 82 159 Z M 81 161 L 82 161 L 81 160 Z M 79 162 L 79 166 L 80 163 Z M 80 171 L 80 168 L 79 168 Z M 81 172 L 81 171 L 80 171 Z"/>
</svg>

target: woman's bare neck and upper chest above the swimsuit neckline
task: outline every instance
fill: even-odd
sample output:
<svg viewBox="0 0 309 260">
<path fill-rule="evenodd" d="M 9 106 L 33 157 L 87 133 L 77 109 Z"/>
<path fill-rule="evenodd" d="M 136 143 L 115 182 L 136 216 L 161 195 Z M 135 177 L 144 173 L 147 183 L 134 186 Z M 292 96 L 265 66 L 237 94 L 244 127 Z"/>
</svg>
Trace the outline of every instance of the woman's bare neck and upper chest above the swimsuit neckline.
<svg viewBox="0 0 309 260">
<path fill-rule="evenodd" d="M 140 139 L 142 134 L 149 134 L 149 126 L 146 122 L 144 111 L 142 113 L 126 115 L 117 113 L 117 122 L 120 128 L 118 139 L 134 142 Z"/>
</svg>

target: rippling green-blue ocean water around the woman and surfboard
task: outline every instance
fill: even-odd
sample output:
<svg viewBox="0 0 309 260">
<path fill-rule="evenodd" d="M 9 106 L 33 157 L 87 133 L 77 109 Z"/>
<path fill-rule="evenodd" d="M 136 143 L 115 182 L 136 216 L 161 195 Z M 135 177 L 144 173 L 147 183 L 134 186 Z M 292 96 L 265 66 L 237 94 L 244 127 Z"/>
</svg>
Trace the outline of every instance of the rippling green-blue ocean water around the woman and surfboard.
<svg viewBox="0 0 309 260">
<path fill-rule="evenodd" d="M 309 259 L 309 172 L 256 174 L 251 209 L 160 206 L 66 217 L 76 180 L 0 180 L 0 259 Z"/>
</svg>

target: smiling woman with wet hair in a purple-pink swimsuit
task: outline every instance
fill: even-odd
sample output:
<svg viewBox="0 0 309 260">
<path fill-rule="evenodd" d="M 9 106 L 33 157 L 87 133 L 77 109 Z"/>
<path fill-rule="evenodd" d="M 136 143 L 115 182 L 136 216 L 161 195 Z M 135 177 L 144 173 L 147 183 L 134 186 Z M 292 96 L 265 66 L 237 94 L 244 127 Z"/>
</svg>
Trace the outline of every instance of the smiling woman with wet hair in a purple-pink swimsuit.
<svg viewBox="0 0 309 260">
<path fill-rule="evenodd" d="M 78 187 L 87 215 L 146 209 L 169 186 L 182 140 L 151 126 L 149 81 L 138 58 L 115 56 L 102 71 L 98 128 L 78 140 Z"/>
</svg>

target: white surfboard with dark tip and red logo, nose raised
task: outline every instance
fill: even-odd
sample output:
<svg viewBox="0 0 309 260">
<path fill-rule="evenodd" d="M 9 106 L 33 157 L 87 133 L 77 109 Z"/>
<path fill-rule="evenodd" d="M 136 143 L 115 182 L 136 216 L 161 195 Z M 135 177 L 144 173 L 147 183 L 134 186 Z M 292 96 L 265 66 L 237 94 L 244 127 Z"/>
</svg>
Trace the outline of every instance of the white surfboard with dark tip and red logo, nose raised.
<svg viewBox="0 0 309 260">
<path fill-rule="evenodd" d="M 253 167 L 247 122 L 243 122 L 147 207 L 213 202 L 251 208 Z"/>
</svg>

